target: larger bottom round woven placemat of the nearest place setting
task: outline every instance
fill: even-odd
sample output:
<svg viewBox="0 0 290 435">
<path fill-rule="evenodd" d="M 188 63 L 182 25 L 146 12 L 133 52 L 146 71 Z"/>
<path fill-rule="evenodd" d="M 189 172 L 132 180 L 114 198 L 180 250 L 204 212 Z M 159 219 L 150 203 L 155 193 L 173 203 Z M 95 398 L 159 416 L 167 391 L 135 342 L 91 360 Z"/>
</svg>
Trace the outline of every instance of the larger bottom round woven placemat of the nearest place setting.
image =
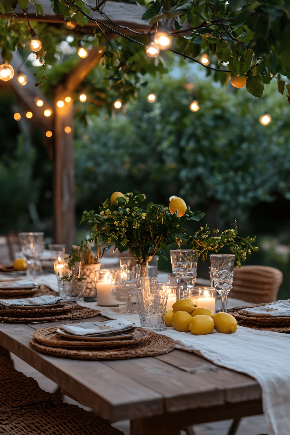
<svg viewBox="0 0 290 435">
<path fill-rule="evenodd" d="M 48 329 L 48 328 L 43 328 Z M 49 328 L 51 331 L 51 328 Z M 56 331 L 57 328 L 55 328 Z M 143 328 L 138 328 L 138 331 L 142 331 Z M 38 330 L 37 332 L 39 332 Z M 129 359 L 129 358 L 139 358 L 146 356 L 156 356 L 163 355 L 174 349 L 174 341 L 170 337 L 165 335 L 156 334 L 152 331 L 146 331 L 146 340 L 140 340 L 137 343 L 130 343 L 127 346 L 122 347 L 98 347 L 97 350 L 94 349 L 68 349 L 68 348 L 57 348 L 52 346 L 46 346 L 40 343 L 35 338 L 36 333 L 33 335 L 33 339 L 30 342 L 33 349 L 40 353 L 50 356 L 56 356 L 59 358 L 70 358 L 70 359 L 82 359 L 99 361 L 105 359 Z"/>
</svg>

